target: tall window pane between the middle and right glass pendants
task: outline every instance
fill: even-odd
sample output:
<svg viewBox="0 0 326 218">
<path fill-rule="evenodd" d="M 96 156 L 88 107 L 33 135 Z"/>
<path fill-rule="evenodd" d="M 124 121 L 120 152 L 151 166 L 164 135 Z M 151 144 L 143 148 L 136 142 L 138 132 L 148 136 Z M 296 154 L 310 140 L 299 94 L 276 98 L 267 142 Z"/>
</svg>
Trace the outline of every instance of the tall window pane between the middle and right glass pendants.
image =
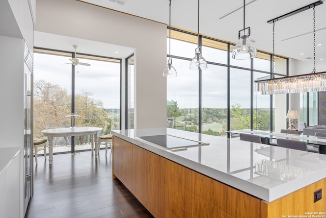
<svg viewBox="0 0 326 218">
<path fill-rule="evenodd" d="M 202 133 L 223 135 L 228 128 L 228 67 L 224 66 L 228 63 L 228 44 L 203 38 L 202 52 L 209 62 L 201 74 Z"/>
</svg>

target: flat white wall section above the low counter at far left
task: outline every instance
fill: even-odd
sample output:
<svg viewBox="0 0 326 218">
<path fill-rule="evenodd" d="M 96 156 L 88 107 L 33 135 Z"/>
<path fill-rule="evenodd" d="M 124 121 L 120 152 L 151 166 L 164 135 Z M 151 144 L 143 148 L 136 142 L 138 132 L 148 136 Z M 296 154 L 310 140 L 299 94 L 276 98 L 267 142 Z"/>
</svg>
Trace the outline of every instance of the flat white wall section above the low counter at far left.
<svg viewBox="0 0 326 218">
<path fill-rule="evenodd" d="M 0 147 L 21 146 L 24 137 L 24 40 L 0 36 Z"/>
</svg>

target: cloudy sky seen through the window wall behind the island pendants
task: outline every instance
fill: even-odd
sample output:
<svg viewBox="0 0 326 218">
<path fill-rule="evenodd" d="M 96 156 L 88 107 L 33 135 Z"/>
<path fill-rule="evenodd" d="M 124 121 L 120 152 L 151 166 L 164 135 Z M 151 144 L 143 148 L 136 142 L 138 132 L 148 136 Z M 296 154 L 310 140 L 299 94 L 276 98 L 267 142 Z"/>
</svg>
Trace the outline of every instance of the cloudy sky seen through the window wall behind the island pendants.
<svg viewBox="0 0 326 218">
<path fill-rule="evenodd" d="M 169 43 L 169 39 L 168 39 Z M 171 40 L 171 55 L 193 58 L 195 56 L 196 44 L 189 46 L 188 42 Z M 192 50 L 191 50 L 192 49 Z M 169 54 L 169 50 L 167 51 Z M 227 52 L 222 50 L 203 47 L 202 56 L 206 61 L 218 61 L 227 64 Z M 207 57 L 207 58 L 206 58 Z M 172 63 L 177 70 L 178 76 L 168 78 L 167 98 L 177 101 L 179 108 L 198 108 L 199 73 L 190 70 L 188 60 L 172 58 Z M 231 59 L 231 65 L 250 68 L 250 60 Z M 269 71 L 269 61 L 256 58 L 255 69 Z M 265 76 L 263 73 L 255 72 L 254 79 Z M 231 68 L 231 104 L 239 103 L 242 108 L 250 108 L 250 71 Z M 269 108 L 269 95 L 254 93 L 254 101 L 259 108 Z M 257 95 L 257 96 L 256 96 Z M 256 103 L 254 104 L 256 105 Z M 207 69 L 202 70 L 202 107 L 226 108 L 227 107 L 227 67 L 208 64 Z"/>
</svg>

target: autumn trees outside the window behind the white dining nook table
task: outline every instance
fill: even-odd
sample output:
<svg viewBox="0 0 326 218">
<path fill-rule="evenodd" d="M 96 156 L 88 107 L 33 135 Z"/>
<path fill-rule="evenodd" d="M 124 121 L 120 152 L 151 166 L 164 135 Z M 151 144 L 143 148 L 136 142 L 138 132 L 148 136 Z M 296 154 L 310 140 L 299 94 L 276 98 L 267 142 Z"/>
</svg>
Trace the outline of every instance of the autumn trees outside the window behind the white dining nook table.
<svg viewBox="0 0 326 218">
<path fill-rule="evenodd" d="M 101 127 L 104 133 L 110 131 L 111 119 L 100 100 L 91 98 L 93 94 L 81 91 L 75 94 L 75 126 Z M 71 126 L 71 94 L 59 85 L 39 80 L 34 83 L 34 137 L 41 137 L 41 131 Z M 76 137 L 77 143 L 83 138 Z M 62 138 L 55 138 L 55 144 L 67 144 Z"/>
</svg>

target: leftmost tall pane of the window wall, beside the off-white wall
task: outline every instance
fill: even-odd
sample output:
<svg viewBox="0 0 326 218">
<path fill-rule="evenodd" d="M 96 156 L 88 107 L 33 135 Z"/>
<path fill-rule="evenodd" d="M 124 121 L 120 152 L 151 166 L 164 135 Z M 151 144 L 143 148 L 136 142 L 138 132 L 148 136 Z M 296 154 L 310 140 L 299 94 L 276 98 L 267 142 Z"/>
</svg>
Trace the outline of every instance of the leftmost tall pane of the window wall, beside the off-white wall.
<svg viewBox="0 0 326 218">
<path fill-rule="evenodd" d="M 171 34 L 177 34 L 177 38 L 187 35 L 175 31 Z M 167 126 L 199 132 L 199 71 L 189 69 L 195 56 L 197 38 L 193 35 L 188 37 L 189 41 L 171 39 L 171 55 L 178 57 L 173 58 L 178 76 L 167 81 Z"/>
</svg>

